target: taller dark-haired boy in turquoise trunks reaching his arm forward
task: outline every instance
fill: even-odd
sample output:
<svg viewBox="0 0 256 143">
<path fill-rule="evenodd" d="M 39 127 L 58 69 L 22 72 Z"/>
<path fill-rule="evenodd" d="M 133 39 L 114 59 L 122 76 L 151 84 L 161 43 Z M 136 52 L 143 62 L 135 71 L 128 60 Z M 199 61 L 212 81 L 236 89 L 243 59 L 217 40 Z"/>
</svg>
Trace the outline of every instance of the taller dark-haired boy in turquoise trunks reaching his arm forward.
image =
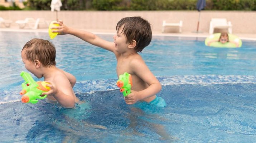
<svg viewBox="0 0 256 143">
<path fill-rule="evenodd" d="M 59 34 L 71 34 L 78 38 L 103 49 L 111 51 L 117 59 L 117 77 L 125 72 L 132 75 L 133 87 L 131 93 L 125 97 L 127 104 L 145 101 L 158 107 L 164 107 L 165 101 L 157 97 L 161 85 L 149 70 L 142 57 L 141 52 L 150 44 L 152 38 L 149 22 L 139 16 L 122 18 L 116 25 L 114 41 L 106 41 L 88 31 L 73 29 L 63 24 L 62 21 L 55 22 L 59 27 L 52 27 L 52 32 Z"/>
</svg>

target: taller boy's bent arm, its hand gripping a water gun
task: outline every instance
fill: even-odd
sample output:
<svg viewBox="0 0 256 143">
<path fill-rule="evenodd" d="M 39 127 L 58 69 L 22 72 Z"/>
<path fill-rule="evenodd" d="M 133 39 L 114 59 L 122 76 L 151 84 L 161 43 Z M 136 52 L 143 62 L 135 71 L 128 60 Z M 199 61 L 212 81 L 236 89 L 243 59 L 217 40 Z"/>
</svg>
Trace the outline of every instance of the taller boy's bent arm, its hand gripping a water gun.
<svg viewBox="0 0 256 143">
<path fill-rule="evenodd" d="M 156 77 L 151 73 L 148 66 L 144 63 L 143 60 L 132 60 L 131 61 L 132 71 L 136 74 L 137 77 L 142 79 L 146 84 L 149 85 L 148 88 L 140 90 L 140 91 L 131 91 L 131 94 L 125 97 L 125 101 L 127 104 L 134 104 L 139 100 L 144 100 L 151 96 L 156 95 L 161 91 L 161 84 L 156 79 Z M 133 86 L 136 86 L 133 84 Z"/>
</svg>

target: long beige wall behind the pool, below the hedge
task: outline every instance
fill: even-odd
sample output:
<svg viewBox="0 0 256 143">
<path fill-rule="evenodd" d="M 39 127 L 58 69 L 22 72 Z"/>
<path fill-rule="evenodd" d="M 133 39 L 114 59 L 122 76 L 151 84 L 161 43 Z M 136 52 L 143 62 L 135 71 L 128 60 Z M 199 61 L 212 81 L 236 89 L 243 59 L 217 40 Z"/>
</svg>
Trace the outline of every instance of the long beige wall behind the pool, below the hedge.
<svg viewBox="0 0 256 143">
<path fill-rule="evenodd" d="M 163 20 L 168 23 L 183 21 L 182 33 L 197 29 L 198 11 L 59 11 L 58 19 L 66 25 L 79 29 L 113 30 L 116 23 L 123 17 L 142 16 L 149 20 L 153 31 L 161 33 Z M 0 17 L 13 21 L 11 28 L 17 27 L 16 20 L 25 18 L 44 18 L 48 22 L 56 20 L 56 14 L 51 11 L 1 11 Z M 231 21 L 233 33 L 256 33 L 256 11 L 201 11 L 199 31 L 209 33 L 211 18 L 226 18 Z M 42 27 L 41 27 L 42 28 Z M 178 31 L 177 29 L 174 29 Z M 256 35 L 256 34 L 255 34 Z M 256 37 L 256 36 L 255 36 Z"/>
</svg>

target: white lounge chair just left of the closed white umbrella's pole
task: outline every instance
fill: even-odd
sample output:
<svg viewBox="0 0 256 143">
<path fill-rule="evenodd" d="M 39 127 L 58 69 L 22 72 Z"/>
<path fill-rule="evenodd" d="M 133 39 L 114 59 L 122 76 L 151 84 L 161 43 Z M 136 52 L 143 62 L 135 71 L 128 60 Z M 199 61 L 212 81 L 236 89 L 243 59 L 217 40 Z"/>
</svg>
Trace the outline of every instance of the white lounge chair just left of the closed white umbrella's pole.
<svg viewBox="0 0 256 143">
<path fill-rule="evenodd" d="M 33 18 L 25 18 L 25 20 L 17 20 L 15 23 L 18 24 L 21 29 L 25 26 L 28 26 L 31 29 L 38 29 L 40 24 L 48 26 L 47 21 L 43 18 L 38 18 L 37 20 Z"/>
</svg>

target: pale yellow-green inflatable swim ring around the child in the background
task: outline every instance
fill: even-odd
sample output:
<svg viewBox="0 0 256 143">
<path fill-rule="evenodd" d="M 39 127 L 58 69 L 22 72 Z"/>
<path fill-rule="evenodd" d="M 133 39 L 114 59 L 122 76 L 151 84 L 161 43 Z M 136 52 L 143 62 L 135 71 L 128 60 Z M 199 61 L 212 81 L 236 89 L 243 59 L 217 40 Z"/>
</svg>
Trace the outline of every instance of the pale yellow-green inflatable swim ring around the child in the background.
<svg viewBox="0 0 256 143">
<path fill-rule="evenodd" d="M 208 46 L 209 41 L 215 40 L 216 42 L 212 42 L 209 46 L 217 47 L 217 48 L 239 48 L 242 46 L 242 41 L 241 41 L 241 39 L 238 38 L 238 36 L 233 35 L 233 34 L 228 34 L 229 41 L 234 41 L 234 42 L 238 43 L 238 47 L 237 47 L 235 43 L 227 42 L 227 43 L 222 44 L 221 42 L 218 42 L 220 35 L 221 35 L 221 33 L 214 33 L 214 34 L 210 35 L 209 37 L 207 37 L 205 39 L 204 44 L 206 46 Z"/>
</svg>

